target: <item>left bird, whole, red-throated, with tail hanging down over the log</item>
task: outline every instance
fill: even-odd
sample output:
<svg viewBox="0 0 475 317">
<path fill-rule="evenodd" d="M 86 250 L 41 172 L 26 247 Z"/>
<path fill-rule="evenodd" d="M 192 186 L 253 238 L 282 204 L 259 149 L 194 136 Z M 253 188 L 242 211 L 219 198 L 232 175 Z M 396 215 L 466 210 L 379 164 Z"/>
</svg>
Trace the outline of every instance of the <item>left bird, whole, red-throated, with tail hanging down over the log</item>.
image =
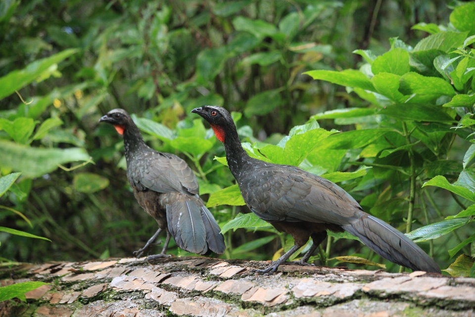
<svg viewBox="0 0 475 317">
<path fill-rule="evenodd" d="M 167 237 L 160 254 L 166 255 L 170 237 L 191 253 L 223 254 L 226 250 L 221 229 L 198 196 L 198 182 L 187 162 L 178 156 L 157 152 L 143 141 L 139 128 L 127 111 L 113 109 L 99 119 L 114 126 L 124 138 L 127 179 L 140 206 L 158 223 L 158 230 L 134 254 L 140 258 L 165 230 Z"/>
</svg>

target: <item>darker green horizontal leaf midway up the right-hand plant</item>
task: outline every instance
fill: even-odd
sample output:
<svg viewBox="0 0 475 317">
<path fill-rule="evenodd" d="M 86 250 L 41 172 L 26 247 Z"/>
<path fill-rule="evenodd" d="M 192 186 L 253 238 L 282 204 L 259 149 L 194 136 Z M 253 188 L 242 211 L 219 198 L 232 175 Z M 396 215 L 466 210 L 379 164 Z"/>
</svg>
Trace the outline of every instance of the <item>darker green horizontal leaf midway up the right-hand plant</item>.
<svg viewBox="0 0 475 317">
<path fill-rule="evenodd" d="M 396 104 L 380 110 L 381 114 L 408 121 L 452 122 L 443 110 L 425 104 Z"/>
</svg>

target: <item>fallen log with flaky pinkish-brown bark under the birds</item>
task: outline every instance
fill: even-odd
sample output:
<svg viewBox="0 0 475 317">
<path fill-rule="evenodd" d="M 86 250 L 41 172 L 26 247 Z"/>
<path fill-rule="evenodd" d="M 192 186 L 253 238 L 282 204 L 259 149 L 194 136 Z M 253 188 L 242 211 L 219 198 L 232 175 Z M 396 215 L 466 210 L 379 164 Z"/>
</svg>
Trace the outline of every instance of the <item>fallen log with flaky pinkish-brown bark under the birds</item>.
<svg viewBox="0 0 475 317">
<path fill-rule="evenodd" d="M 170 258 L 24 264 L 1 286 L 45 281 L 27 303 L 0 303 L 0 317 L 475 317 L 475 279 L 267 262 Z"/>
</svg>

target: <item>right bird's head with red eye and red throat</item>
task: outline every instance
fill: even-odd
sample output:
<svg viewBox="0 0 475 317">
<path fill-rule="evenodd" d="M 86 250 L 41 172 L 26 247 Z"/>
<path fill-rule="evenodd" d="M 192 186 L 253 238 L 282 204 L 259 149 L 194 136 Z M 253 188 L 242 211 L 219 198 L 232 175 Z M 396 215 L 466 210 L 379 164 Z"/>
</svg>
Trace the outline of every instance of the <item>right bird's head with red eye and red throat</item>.
<svg viewBox="0 0 475 317">
<path fill-rule="evenodd" d="M 199 114 L 208 121 L 211 128 L 213 128 L 214 134 L 221 142 L 226 140 L 226 134 L 230 128 L 234 127 L 236 129 L 231 114 L 223 107 L 202 106 L 194 108 L 191 112 Z"/>
</svg>

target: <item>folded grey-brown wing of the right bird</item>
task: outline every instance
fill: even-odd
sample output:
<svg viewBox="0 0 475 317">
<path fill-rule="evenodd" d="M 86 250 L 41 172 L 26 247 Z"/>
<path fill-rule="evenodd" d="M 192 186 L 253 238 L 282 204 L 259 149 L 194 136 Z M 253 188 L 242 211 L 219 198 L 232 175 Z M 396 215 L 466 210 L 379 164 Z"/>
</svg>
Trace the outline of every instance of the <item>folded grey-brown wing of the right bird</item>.
<svg viewBox="0 0 475 317">
<path fill-rule="evenodd" d="M 338 225 L 356 220 L 355 211 L 360 207 L 339 186 L 299 168 L 283 167 L 258 170 L 242 184 L 244 200 L 259 217 Z"/>
</svg>

